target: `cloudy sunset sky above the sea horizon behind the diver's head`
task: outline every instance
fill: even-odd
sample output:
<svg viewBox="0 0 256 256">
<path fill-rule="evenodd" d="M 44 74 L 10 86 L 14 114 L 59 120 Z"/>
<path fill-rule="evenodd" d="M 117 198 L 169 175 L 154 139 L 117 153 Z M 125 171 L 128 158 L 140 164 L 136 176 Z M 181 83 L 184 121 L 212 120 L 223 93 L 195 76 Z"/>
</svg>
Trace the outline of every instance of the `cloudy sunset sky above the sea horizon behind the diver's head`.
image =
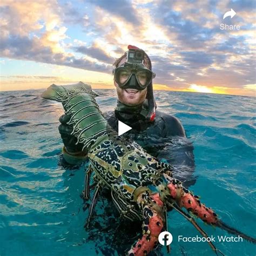
<svg viewBox="0 0 256 256">
<path fill-rule="evenodd" d="M 0 91 L 114 88 L 131 44 L 149 55 L 155 90 L 256 96 L 255 11 L 247 0 L 1 0 Z"/>
</svg>

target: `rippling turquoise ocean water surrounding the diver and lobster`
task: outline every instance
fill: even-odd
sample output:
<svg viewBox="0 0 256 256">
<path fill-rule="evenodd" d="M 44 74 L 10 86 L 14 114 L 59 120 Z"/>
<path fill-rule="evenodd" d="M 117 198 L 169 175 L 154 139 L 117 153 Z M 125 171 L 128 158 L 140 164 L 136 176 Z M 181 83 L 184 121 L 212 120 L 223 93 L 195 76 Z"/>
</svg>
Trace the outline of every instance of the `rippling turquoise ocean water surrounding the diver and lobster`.
<svg viewBox="0 0 256 256">
<path fill-rule="evenodd" d="M 89 230 L 88 203 L 79 197 L 85 166 L 59 164 L 59 103 L 42 91 L 0 92 L 0 255 L 122 255 L 140 223 L 123 224 L 100 198 Z M 97 90 L 103 112 L 116 104 L 112 90 Z M 155 92 L 158 109 L 183 123 L 194 145 L 197 177 L 190 187 L 230 226 L 255 237 L 255 98 L 189 92 Z M 197 221 L 208 235 L 226 231 Z M 168 213 L 171 255 L 215 255 L 205 242 L 178 242 L 200 234 L 181 215 Z M 225 255 L 255 255 L 247 241 L 214 243 Z M 122 249 L 122 250 L 121 250 Z M 169 255 L 159 247 L 152 255 Z"/>
</svg>

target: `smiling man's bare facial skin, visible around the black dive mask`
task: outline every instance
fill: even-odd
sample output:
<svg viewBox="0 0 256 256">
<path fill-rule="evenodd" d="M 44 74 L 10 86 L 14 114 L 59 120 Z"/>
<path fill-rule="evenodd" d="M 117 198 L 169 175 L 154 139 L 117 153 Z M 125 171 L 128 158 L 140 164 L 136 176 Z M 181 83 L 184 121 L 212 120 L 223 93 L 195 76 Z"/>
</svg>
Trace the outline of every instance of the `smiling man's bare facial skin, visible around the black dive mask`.
<svg viewBox="0 0 256 256">
<path fill-rule="evenodd" d="M 118 66 L 122 65 L 125 63 L 126 58 L 124 57 Z M 146 99 L 146 94 L 147 94 L 147 88 L 144 90 L 135 90 L 135 89 L 122 89 L 118 86 L 116 81 L 114 81 L 114 86 L 117 88 L 117 97 L 120 100 L 120 102 L 133 106 L 133 105 L 139 105 L 144 102 Z"/>
</svg>

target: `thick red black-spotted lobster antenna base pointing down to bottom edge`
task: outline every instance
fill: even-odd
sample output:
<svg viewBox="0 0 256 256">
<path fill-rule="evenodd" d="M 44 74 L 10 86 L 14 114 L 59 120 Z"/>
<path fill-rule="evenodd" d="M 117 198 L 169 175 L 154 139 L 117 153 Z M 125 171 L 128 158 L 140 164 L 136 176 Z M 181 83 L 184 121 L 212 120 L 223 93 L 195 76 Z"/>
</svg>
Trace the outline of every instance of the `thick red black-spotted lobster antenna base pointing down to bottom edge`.
<svg viewBox="0 0 256 256">
<path fill-rule="evenodd" d="M 129 256 L 144 256 L 158 245 L 158 235 L 163 231 L 165 218 L 163 202 L 159 194 L 149 196 L 147 192 L 139 195 L 138 204 L 143 207 L 143 237 L 128 252 Z"/>
</svg>

